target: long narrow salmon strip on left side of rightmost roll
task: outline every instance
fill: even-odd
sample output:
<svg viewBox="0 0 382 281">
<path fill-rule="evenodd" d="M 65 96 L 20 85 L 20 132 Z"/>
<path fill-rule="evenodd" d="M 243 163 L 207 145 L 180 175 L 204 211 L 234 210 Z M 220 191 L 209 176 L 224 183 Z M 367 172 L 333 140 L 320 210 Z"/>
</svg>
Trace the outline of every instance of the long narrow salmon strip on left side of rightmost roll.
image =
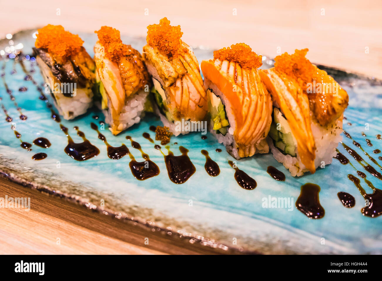
<svg viewBox="0 0 382 281">
<path fill-rule="evenodd" d="M 274 68 L 260 70 L 260 76 L 275 103 L 280 106 L 297 141 L 298 155 L 313 174 L 316 145 L 311 129 L 309 99 L 297 82 L 278 74 Z"/>
</svg>

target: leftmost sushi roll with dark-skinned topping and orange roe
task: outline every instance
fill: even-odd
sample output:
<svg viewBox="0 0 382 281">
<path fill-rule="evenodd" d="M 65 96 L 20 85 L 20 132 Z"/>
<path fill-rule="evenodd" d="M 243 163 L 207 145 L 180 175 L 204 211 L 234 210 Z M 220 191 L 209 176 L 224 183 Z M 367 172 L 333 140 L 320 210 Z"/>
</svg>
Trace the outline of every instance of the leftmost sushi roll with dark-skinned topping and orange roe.
<svg viewBox="0 0 382 281">
<path fill-rule="evenodd" d="M 73 119 L 92 106 L 95 64 L 82 39 L 60 25 L 37 30 L 33 48 L 45 86 L 65 119 Z"/>
</svg>

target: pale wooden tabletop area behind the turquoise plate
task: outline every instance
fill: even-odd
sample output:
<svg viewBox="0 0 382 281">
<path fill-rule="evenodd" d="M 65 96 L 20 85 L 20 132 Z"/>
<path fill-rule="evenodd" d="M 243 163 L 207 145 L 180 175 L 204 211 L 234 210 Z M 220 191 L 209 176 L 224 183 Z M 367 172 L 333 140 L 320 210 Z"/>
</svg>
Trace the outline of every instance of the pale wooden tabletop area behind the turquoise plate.
<svg viewBox="0 0 382 281">
<path fill-rule="evenodd" d="M 314 63 L 382 78 L 381 0 L 21 0 L 17 6 L 1 9 L 1 37 L 48 23 L 72 32 L 108 25 L 145 36 L 147 25 L 167 16 L 194 46 L 245 42 L 270 57 L 307 47 Z"/>
</svg>

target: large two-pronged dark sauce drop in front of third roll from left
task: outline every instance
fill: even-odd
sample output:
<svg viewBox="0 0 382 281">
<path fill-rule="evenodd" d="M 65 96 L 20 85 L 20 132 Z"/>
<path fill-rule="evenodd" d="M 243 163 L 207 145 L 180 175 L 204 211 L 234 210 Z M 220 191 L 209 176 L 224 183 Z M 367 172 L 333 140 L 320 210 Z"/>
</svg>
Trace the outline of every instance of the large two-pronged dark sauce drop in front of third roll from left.
<svg viewBox="0 0 382 281">
<path fill-rule="evenodd" d="M 170 147 L 166 146 L 168 154 L 165 155 L 162 150 L 163 157 L 165 158 L 165 164 L 169 179 L 175 184 L 183 184 L 186 182 L 196 171 L 194 164 L 189 159 L 187 153 L 188 149 L 183 146 L 179 147 L 179 151 L 182 155 L 174 156 Z"/>
</svg>

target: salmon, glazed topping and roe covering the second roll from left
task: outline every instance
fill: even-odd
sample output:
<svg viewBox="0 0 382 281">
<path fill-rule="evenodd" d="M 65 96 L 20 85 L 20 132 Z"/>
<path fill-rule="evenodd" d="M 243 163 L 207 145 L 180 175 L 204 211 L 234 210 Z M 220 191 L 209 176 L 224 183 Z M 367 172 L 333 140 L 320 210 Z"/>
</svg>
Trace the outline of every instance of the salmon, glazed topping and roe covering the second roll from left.
<svg viewBox="0 0 382 281">
<path fill-rule="evenodd" d="M 123 44 L 117 29 L 102 26 L 95 33 L 98 41 L 94 46 L 94 60 L 107 96 L 112 119 L 110 130 L 117 135 L 124 128 L 121 116 L 126 110 L 125 106 L 129 105 L 128 98 L 151 83 L 141 54 L 131 45 Z"/>
</svg>

